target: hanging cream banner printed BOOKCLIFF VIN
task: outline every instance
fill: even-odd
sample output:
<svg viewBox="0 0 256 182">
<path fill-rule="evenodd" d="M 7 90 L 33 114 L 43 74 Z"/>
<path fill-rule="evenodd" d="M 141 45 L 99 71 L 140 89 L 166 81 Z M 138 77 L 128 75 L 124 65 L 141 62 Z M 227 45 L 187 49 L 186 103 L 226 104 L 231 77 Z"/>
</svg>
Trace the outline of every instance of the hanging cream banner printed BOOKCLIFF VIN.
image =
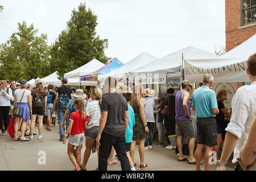
<svg viewBox="0 0 256 182">
<path fill-rule="evenodd" d="M 247 58 L 184 60 L 184 78 L 202 82 L 206 73 L 211 73 L 213 82 L 246 82 Z"/>
</svg>

